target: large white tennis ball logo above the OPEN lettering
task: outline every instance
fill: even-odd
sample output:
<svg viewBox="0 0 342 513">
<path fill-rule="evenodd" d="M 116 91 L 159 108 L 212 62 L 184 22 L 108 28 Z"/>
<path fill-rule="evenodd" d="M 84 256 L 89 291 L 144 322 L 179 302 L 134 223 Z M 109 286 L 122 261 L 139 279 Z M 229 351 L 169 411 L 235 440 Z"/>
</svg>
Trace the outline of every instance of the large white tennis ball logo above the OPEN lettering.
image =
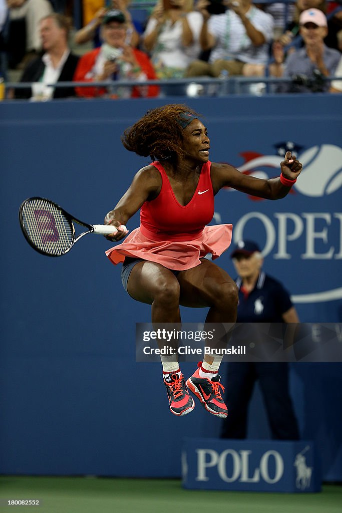
<svg viewBox="0 0 342 513">
<path fill-rule="evenodd" d="M 305 196 L 320 198 L 342 186 L 342 149 L 332 144 L 313 146 L 300 154 L 303 171 L 295 188 Z"/>
</svg>

